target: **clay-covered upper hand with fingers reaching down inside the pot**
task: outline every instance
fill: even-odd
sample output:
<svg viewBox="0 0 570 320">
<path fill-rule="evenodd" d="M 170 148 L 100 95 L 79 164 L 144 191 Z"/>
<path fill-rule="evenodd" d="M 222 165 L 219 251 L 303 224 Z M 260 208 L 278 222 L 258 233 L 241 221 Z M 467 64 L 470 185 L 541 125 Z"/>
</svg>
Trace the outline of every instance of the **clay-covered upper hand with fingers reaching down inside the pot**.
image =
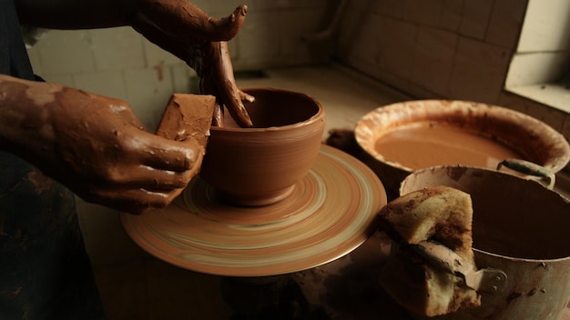
<svg viewBox="0 0 570 320">
<path fill-rule="evenodd" d="M 131 25 L 149 41 L 186 61 L 201 78 L 202 92 L 217 97 L 219 110 L 225 106 L 239 125 L 251 126 L 243 101 L 253 97 L 236 85 L 227 47 L 245 21 L 247 6 L 239 5 L 231 15 L 216 19 L 187 0 L 136 3 Z"/>
</svg>

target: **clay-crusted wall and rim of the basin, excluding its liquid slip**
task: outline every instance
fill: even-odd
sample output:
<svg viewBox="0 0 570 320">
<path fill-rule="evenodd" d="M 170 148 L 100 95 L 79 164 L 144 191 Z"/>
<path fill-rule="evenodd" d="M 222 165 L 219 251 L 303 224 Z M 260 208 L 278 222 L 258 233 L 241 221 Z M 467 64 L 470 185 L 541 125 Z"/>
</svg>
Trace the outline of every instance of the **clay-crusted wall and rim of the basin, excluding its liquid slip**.
<svg viewBox="0 0 570 320">
<path fill-rule="evenodd" d="M 398 192 L 402 180 L 413 170 L 433 165 L 414 168 L 402 165 L 382 155 L 376 144 L 388 134 L 414 125 L 448 126 L 480 135 L 489 139 L 489 143 L 504 145 L 521 155 L 523 160 L 542 165 L 552 173 L 560 171 L 570 160 L 570 146 L 563 135 L 534 117 L 501 106 L 451 100 L 418 100 L 385 105 L 364 115 L 355 126 L 354 134 L 365 151 L 362 162 L 369 165 L 380 177 L 382 184 L 394 193 Z M 443 139 L 444 143 L 462 143 L 454 141 L 453 135 L 447 135 Z M 484 154 L 487 150 L 475 151 Z M 427 160 L 430 156 L 429 151 L 414 155 L 413 161 L 422 163 L 422 158 Z M 471 164 L 458 162 L 435 165 Z M 473 166 L 496 168 L 496 165 Z"/>
</svg>

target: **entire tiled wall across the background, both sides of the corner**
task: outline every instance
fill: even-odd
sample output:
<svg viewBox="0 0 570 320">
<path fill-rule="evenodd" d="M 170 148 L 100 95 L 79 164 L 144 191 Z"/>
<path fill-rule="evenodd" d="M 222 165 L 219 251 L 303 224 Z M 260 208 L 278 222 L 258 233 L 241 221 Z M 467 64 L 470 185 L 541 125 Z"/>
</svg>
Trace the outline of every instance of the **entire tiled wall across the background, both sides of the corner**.
<svg viewBox="0 0 570 320">
<path fill-rule="evenodd" d="M 237 5 L 249 6 L 246 24 L 229 43 L 236 70 L 304 65 L 334 56 L 418 98 L 512 107 L 570 137 L 568 113 L 504 91 L 529 0 L 350 0 L 332 44 L 303 42 L 302 35 L 328 24 L 339 2 L 194 1 L 216 17 Z M 545 6 L 544 0 L 530 3 Z M 548 3 L 568 7 L 566 0 Z M 566 34 L 557 38 L 568 43 Z M 125 99 L 151 129 L 169 95 L 195 85 L 191 69 L 129 27 L 51 31 L 29 52 L 37 74 Z"/>
</svg>

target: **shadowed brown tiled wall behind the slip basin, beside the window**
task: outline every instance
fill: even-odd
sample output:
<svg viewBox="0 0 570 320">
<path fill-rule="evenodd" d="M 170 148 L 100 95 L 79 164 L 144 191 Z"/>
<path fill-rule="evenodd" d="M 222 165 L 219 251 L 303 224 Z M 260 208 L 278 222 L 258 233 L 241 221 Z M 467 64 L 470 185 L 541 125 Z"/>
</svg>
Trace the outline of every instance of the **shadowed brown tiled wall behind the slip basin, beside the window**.
<svg viewBox="0 0 570 320">
<path fill-rule="evenodd" d="M 565 0 L 548 2 L 568 7 Z M 352 0 L 336 52 L 344 64 L 417 98 L 504 105 L 543 120 L 570 139 L 567 112 L 504 91 L 527 4 L 528 0 Z M 534 4 L 547 5 L 543 0 Z M 568 41 L 567 29 L 556 30 Z"/>
</svg>

